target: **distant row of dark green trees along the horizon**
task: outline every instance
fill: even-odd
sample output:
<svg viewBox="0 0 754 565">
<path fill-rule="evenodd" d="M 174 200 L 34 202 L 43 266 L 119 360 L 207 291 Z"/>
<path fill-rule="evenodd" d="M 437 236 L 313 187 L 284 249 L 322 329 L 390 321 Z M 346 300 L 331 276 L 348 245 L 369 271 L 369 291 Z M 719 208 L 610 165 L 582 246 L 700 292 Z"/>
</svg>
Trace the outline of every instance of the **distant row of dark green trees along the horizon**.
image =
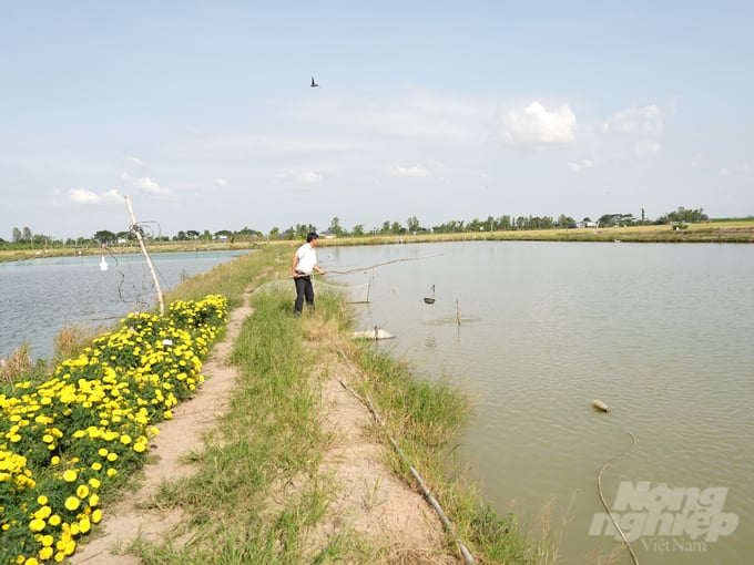
<svg viewBox="0 0 754 565">
<path fill-rule="evenodd" d="M 422 226 L 416 216 L 406 219 L 405 223 L 386 219 L 378 227 L 366 229 L 364 224 L 355 225 L 350 230 L 340 225 L 340 219 L 336 216 L 332 219 L 330 225 L 324 234 L 332 234 L 336 237 L 354 236 L 363 237 L 369 235 L 408 235 L 418 233 L 435 233 L 435 234 L 458 234 L 471 232 L 509 232 L 518 229 L 558 229 L 558 228 L 575 228 L 575 227 L 611 227 L 611 226 L 635 226 L 649 224 L 683 224 L 694 222 L 705 222 L 710 219 L 702 208 L 684 208 L 679 207 L 676 210 L 669 212 L 650 220 L 645 217 L 642 208 L 641 218 L 635 218 L 633 214 L 603 214 L 597 220 L 585 217 L 579 222 L 566 214 L 560 216 L 518 216 L 502 215 L 499 217 L 487 216 L 487 219 L 473 218 L 470 222 L 463 219 L 451 219 L 444 224 L 436 226 Z M 161 234 L 146 234 L 149 239 L 155 242 L 213 242 L 227 240 L 234 242 L 254 242 L 258 239 L 291 239 L 297 240 L 306 237 L 309 232 L 318 232 L 317 226 L 313 224 L 296 224 L 286 229 L 273 227 L 268 234 L 264 234 L 256 229 L 244 227 L 238 230 L 221 229 L 218 232 L 210 232 L 208 229 L 185 229 L 179 230 L 176 235 L 169 237 Z M 55 239 L 51 236 L 32 234 L 29 227 L 19 229 L 14 227 L 11 234 L 11 240 L 6 242 L 0 238 L 0 245 L 3 247 L 61 247 L 61 246 L 91 246 L 91 245 L 113 245 L 131 243 L 135 239 L 135 233 L 131 232 L 110 232 L 101 229 L 95 232 L 90 237 L 67 238 L 65 240 Z"/>
</svg>

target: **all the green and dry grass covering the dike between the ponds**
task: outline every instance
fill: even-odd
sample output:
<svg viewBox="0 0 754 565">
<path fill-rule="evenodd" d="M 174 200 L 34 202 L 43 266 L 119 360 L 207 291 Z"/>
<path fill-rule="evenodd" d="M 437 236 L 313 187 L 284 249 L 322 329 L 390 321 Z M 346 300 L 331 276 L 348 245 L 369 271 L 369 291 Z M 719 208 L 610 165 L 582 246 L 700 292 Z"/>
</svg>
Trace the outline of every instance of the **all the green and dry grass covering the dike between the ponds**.
<svg viewBox="0 0 754 565">
<path fill-rule="evenodd" d="M 223 294 L 236 307 L 248 285 L 257 288 L 287 276 L 281 249 L 266 246 L 193 277 L 167 292 L 165 301 Z M 292 316 L 289 291 L 255 292 L 253 298 L 254 314 L 244 320 L 232 353 L 238 378 L 227 412 L 216 429 L 206 430 L 203 448 L 187 456 L 196 473 L 164 482 L 154 500 L 142 502 L 145 508 L 180 511 L 183 520 L 167 538 L 155 543 L 140 537 L 122 552 L 147 565 L 388 561 L 384 549 L 348 527 L 326 535 L 318 528 L 334 485 L 319 472 L 333 438 L 320 427 L 316 387 L 334 351 L 344 350 L 365 377 L 359 392 L 374 399 L 475 557 L 480 563 L 554 562 L 549 517 L 529 528 L 513 515 L 497 515 L 454 460 L 455 442 L 470 412 L 462 393 L 449 382 L 418 380 L 407 363 L 374 345 L 351 342 L 351 314 L 337 297 L 319 292 L 317 311 L 302 319 Z M 79 338 L 71 331 L 61 342 L 74 349 Z M 386 441 L 380 430 L 374 434 Z M 389 458 L 395 472 L 414 487 L 405 462 Z M 379 511 L 384 501 L 378 486 L 367 491 L 365 507 Z"/>
</svg>

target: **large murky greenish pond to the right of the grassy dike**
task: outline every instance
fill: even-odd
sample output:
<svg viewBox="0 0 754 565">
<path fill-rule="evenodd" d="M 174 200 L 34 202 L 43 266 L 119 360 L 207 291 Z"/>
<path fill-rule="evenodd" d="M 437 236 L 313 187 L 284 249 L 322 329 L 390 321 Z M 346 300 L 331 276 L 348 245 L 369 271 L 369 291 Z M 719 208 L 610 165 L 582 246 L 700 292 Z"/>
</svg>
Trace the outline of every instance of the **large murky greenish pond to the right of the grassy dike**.
<svg viewBox="0 0 754 565">
<path fill-rule="evenodd" d="M 348 271 L 327 278 L 371 285 L 360 329 L 396 336 L 379 347 L 468 391 L 457 456 L 500 514 L 536 523 L 552 505 L 559 563 L 632 563 L 597 489 L 613 458 L 602 493 L 640 563 L 748 563 L 754 246 L 473 242 L 318 258 Z"/>
</svg>

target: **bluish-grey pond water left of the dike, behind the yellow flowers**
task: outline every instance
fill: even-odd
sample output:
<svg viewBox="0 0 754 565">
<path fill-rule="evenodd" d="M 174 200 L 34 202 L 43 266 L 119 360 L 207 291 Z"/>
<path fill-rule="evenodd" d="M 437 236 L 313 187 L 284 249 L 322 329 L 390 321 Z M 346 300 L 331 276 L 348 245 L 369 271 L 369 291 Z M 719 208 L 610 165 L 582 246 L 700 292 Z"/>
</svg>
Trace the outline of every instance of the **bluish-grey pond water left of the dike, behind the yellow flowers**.
<svg viewBox="0 0 754 565">
<path fill-rule="evenodd" d="M 150 256 L 162 291 L 247 251 L 164 253 Z M 109 326 L 156 304 L 142 255 L 39 258 L 0 263 L 0 357 L 28 342 L 34 359 L 53 353 L 67 323 Z"/>
</svg>

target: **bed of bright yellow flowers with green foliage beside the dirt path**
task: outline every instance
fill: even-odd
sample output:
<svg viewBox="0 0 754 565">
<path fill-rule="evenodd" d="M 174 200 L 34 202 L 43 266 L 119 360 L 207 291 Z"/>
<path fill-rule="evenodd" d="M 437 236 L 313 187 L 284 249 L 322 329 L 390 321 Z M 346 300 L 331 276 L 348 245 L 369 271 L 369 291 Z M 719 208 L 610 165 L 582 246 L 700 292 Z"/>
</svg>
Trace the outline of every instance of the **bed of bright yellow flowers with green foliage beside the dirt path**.
<svg viewBox="0 0 754 565">
<path fill-rule="evenodd" d="M 0 394 L 0 564 L 62 562 L 102 520 L 99 492 L 144 462 L 156 422 L 204 380 L 226 299 L 130 314 L 52 378 Z"/>
</svg>

